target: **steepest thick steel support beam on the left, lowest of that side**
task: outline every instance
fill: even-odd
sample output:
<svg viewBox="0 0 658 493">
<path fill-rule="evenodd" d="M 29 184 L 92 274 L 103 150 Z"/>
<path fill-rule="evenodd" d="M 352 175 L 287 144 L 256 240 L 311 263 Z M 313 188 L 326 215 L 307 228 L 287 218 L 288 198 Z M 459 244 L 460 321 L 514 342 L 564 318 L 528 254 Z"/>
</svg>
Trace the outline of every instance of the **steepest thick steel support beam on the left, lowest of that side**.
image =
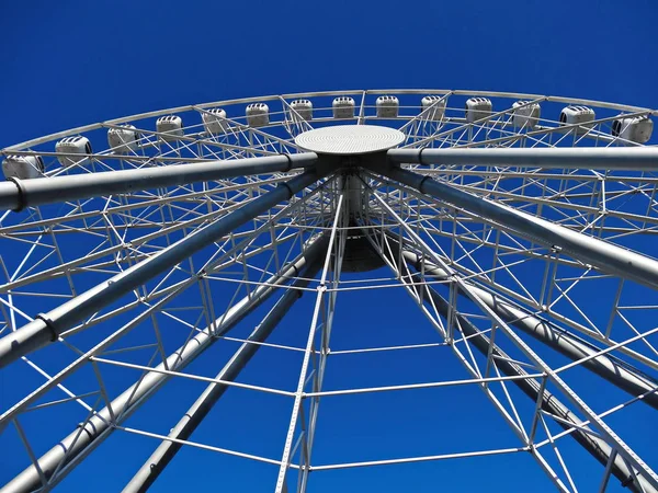
<svg viewBox="0 0 658 493">
<path fill-rule="evenodd" d="M 293 287 L 304 288 L 308 286 L 310 279 L 315 277 L 320 267 L 319 261 L 316 261 L 302 272 L 300 278 L 293 283 Z M 261 323 L 249 335 L 248 341 L 243 343 L 235 353 L 230 360 L 222 368 L 215 377 L 217 380 L 232 381 L 242 368 L 249 363 L 251 357 L 260 348 L 272 331 L 276 328 L 281 319 L 287 313 L 294 302 L 304 291 L 286 289 L 285 294 L 274 305 Z M 253 344 L 257 343 L 257 344 Z M 169 433 L 169 437 L 177 440 L 186 440 L 192 433 L 211 412 L 219 398 L 228 387 L 223 383 L 211 383 L 204 392 L 196 399 L 188 412 L 181 417 L 177 425 Z M 158 479 L 160 473 L 175 457 L 182 445 L 177 442 L 162 442 L 160 446 L 151 454 L 148 460 L 135 473 L 131 482 L 124 488 L 123 493 L 137 493 L 147 491 Z"/>
</svg>

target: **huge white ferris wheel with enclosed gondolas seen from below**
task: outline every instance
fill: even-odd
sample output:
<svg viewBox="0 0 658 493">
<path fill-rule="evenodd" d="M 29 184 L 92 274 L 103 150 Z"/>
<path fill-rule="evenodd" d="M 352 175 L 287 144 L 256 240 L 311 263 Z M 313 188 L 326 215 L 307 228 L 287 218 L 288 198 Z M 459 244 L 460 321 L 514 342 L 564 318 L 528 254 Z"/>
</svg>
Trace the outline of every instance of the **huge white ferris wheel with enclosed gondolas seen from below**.
<svg viewBox="0 0 658 493">
<path fill-rule="evenodd" d="M 655 114 L 331 91 L 3 149 L 0 492 L 90 481 L 116 435 L 149 449 L 94 466 L 125 492 L 185 450 L 246 491 L 522 457 L 557 491 L 658 492 Z M 332 442 L 367 405 L 381 431 Z"/>
</svg>

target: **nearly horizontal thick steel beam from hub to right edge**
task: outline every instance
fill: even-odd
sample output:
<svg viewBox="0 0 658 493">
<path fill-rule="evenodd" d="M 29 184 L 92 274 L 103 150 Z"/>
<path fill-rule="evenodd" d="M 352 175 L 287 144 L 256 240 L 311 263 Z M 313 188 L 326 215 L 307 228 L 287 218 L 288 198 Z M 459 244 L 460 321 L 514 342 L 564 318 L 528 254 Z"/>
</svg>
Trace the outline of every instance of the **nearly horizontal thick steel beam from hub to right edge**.
<svg viewBox="0 0 658 493">
<path fill-rule="evenodd" d="M 658 170 L 655 147 L 390 149 L 388 159 L 396 163 L 444 165 Z"/>
</svg>

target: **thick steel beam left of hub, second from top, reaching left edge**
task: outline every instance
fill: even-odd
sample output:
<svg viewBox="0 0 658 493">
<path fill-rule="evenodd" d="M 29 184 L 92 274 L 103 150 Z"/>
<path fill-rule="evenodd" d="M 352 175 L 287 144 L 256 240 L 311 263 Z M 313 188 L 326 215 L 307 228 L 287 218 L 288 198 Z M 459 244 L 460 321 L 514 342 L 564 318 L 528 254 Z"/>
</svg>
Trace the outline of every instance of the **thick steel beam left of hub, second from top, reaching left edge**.
<svg viewBox="0 0 658 493">
<path fill-rule="evenodd" d="M 265 213 L 318 180 L 315 171 L 307 171 L 275 190 L 263 194 L 238 210 L 222 217 L 182 240 L 155 253 L 112 278 L 76 296 L 32 322 L 0 339 L 0 368 L 50 342 L 76 323 L 92 316 L 152 277 L 172 268 L 193 253 L 234 231 L 245 222 Z"/>
</svg>

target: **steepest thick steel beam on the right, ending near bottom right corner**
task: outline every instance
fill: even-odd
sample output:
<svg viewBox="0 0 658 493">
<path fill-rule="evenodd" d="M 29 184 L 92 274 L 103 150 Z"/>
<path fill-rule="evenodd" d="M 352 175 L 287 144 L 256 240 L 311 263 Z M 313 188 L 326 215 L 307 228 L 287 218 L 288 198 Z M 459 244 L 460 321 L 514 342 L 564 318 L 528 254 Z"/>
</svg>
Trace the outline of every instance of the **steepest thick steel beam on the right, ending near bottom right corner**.
<svg viewBox="0 0 658 493">
<path fill-rule="evenodd" d="M 395 243 L 392 243 L 395 250 Z M 402 251 L 405 253 L 405 251 Z M 393 252 L 394 259 L 389 259 L 392 265 L 396 265 L 397 254 Z M 413 263 L 407 255 L 405 260 L 418 271 L 418 263 Z M 430 266 L 431 268 L 432 266 Z M 427 264 L 426 264 L 427 268 Z M 427 274 L 426 270 L 426 274 Z M 421 280 L 420 274 L 417 274 L 418 279 Z M 447 319 L 451 313 L 451 307 L 449 301 L 443 298 L 439 293 L 429 286 L 423 286 L 424 289 L 424 302 L 429 299 L 433 301 L 433 307 L 436 309 L 443 318 Z M 474 325 L 467 318 L 457 313 L 455 317 L 457 326 L 467 337 L 465 344 L 473 344 L 484 356 L 496 358 L 496 366 L 509 377 L 526 376 L 527 372 L 518 364 L 512 363 L 511 358 L 500 348 L 497 344 L 492 343 L 489 337 L 484 335 L 480 330 Z M 523 393 L 525 393 L 533 402 L 541 402 L 541 409 L 554 414 L 565 422 L 574 425 L 571 436 L 576 439 L 588 452 L 590 452 L 599 462 L 603 466 L 609 463 L 610 457 L 613 454 L 613 449 L 608 443 L 595 436 L 593 433 L 588 433 L 589 426 L 583 424 L 565 404 L 563 404 L 555 395 L 547 391 L 540 382 L 534 379 L 514 379 L 511 380 Z M 538 412 L 538 410 L 537 410 Z M 556 420 L 563 428 L 569 429 L 570 426 L 566 423 Z M 532 444 L 530 444 L 532 446 Z M 635 493 L 658 493 L 650 483 L 648 483 L 642 475 L 636 474 L 634 471 L 628 469 L 628 466 L 617 454 L 614 454 L 612 460 L 612 473 L 622 482 L 623 485 L 628 486 Z"/>
</svg>

